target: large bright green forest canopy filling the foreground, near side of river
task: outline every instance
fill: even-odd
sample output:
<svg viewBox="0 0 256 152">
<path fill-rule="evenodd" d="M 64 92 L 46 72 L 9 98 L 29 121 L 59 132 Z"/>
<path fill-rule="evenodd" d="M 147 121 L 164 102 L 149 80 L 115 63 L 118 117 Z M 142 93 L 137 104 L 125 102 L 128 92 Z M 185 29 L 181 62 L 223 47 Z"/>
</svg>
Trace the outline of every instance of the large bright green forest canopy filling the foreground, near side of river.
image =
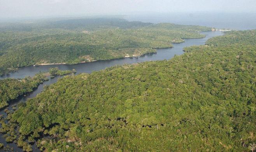
<svg viewBox="0 0 256 152">
<path fill-rule="evenodd" d="M 27 151 L 26 139 L 46 152 L 249 151 L 256 46 L 184 50 L 171 60 L 64 77 L 20 104 L 1 132 Z"/>
</svg>

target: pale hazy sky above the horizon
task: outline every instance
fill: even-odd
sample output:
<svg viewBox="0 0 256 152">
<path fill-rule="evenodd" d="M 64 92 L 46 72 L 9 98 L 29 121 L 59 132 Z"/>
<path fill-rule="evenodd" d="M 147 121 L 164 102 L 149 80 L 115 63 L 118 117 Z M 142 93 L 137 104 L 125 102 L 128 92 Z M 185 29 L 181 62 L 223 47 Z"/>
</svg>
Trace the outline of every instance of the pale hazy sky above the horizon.
<svg viewBox="0 0 256 152">
<path fill-rule="evenodd" d="M 255 12 L 256 0 L 0 0 L 0 18 L 201 11 Z"/>
</svg>

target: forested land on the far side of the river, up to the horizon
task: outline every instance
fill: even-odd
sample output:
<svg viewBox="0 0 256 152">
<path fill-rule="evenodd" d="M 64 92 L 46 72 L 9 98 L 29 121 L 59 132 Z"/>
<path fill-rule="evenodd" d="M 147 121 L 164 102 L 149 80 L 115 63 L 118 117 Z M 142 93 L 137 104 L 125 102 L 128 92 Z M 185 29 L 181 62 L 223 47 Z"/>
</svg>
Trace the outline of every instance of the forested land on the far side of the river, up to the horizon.
<svg viewBox="0 0 256 152">
<path fill-rule="evenodd" d="M 102 22 L 101 22 L 102 20 Z M 9 25 L 11 24 L 11 25 Z M 209 27 L 70 19 L 0 25 L 0 75 L 26 65 L 107 60 L 155 52 Z M 26 30 L 27 27 L 29 30 Z M 20 28 L 20 29 L 19 29 Z"/>
</svg>

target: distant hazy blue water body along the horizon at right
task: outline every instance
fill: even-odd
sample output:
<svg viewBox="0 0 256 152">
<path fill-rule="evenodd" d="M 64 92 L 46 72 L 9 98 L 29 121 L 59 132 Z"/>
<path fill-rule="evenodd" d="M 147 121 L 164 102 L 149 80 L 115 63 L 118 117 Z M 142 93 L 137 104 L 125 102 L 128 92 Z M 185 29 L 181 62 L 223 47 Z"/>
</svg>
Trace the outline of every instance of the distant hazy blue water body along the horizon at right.
<svg viewBox="0 0 256 152">
<path fill-rule="evenodd" d="M 253 13 L 149 13 L 127 15 L 129 21 L 151 23 L 169 22 L 183 25 L 200 25 L 217 29 L 247 30 L 256 29 L 256 12 Z"/>
</svg>

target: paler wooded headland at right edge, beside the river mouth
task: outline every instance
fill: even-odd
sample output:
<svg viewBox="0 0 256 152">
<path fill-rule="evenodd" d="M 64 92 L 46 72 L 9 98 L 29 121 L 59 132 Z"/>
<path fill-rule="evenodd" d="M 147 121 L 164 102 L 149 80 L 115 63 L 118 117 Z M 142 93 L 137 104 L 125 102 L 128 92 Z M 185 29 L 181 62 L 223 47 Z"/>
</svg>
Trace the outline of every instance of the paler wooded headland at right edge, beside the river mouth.
<svg viewBox="0 0 256 152">
<path fill-rule="evenodd" d="M 206 44 L 214 46 L 225 46 L 228 44 L 256 45 L 256 30 L 228 31 L 223 36 L 208 39 Z"/>
</svg>

